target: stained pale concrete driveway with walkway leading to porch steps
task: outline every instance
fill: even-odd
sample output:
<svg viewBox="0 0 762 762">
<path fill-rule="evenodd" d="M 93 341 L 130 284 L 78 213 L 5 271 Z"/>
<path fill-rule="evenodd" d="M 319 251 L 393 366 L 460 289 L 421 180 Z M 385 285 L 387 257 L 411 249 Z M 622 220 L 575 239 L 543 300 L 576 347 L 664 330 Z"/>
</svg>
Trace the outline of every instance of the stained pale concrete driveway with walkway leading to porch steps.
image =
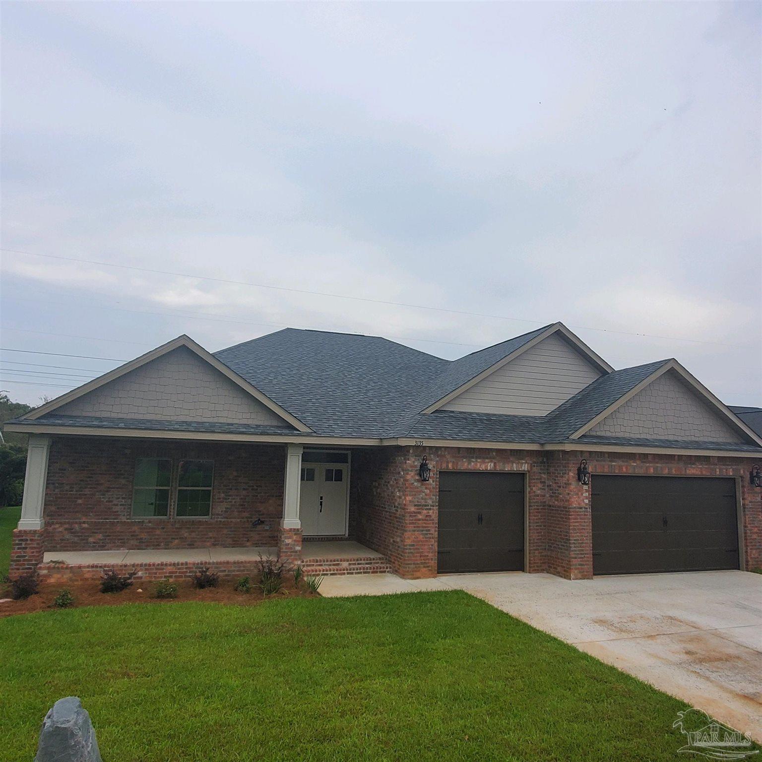
<svg viewBox="0 0 762 762">
<path fill-rule="evenodd" d="M 458 589 L 648 681 L 762 741 L 762 575 L 327 577 L 320 592 Z"/>
</svg>

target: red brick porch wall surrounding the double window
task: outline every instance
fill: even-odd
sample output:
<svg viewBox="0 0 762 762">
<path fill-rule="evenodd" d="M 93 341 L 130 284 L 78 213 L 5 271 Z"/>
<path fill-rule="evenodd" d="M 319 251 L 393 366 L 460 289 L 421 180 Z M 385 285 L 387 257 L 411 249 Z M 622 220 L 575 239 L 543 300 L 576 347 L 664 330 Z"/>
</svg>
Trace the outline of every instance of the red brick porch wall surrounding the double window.
<svg viewBox="0 0 762 762">
<path fill-rule="evenodd" d="M 212 459 L 208 519 L 133 519 L 139 457 Z M 46 550 L 277 546 L 282 445 L 56 437 L 45 493 Z M 264 523 L 252 527 L 261 518 Z"/>
</svg>

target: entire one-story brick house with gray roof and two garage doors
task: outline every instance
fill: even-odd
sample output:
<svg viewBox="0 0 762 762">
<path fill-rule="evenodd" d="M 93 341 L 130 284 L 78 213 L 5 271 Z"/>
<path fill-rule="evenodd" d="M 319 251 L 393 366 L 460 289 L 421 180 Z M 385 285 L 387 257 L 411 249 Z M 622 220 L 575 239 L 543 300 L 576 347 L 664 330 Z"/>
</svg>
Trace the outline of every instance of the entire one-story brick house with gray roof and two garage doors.
<svg viewBox="0 0 762 762">
<path fill-rule="evenodd" d="M 453 361 L 181 336 L 5 428 L 30 435 L 11 575 L 762 566 L 760 434 L 676 360 L 613 370 L 560 323 Z"/>
</svg>

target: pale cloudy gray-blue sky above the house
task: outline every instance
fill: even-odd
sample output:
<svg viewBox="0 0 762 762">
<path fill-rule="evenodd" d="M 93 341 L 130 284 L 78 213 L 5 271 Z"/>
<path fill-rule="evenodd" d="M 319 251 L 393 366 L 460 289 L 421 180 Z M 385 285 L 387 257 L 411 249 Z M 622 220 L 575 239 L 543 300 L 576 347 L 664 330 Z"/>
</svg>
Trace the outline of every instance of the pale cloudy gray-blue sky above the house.
<svg viewBox="0 0 762 762">
<path fill-rule="evenodd" d="M 2 252 L 0 345 L 562 320 L 762 405 L 760 8 L 5 2 L 4 248 L 298 291 Z M 2 357 L 31 403 L 116 364 Z"/>
</svg>

